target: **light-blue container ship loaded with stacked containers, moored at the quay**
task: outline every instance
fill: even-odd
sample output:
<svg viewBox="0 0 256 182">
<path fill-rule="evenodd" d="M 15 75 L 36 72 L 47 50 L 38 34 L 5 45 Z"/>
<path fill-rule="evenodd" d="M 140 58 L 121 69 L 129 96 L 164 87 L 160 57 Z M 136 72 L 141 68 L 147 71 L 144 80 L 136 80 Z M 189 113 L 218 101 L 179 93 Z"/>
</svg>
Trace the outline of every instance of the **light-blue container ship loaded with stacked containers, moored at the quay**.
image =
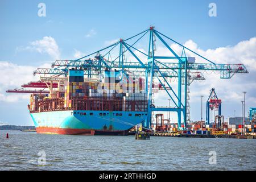
<svg viewBox="0 0 256 182">
<path fill-rule="evenodd" d="M 28 104 L 36 132 L 126 135 L 147 118 L 147 95 L 143 78 L 119 78 L 120 72 L 106 70 L 100 81 L 72 68 L 61 79 L 41 78 L 49 93 L 31 94 Z"/>
</svg>

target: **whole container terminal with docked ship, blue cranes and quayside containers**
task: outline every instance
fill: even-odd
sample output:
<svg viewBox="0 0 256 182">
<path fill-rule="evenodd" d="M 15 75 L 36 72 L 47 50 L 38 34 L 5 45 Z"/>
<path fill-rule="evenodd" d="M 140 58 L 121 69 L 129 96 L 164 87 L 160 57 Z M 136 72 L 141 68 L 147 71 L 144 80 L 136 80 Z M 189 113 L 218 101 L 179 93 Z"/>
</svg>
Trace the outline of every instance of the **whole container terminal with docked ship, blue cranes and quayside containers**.
<svg viewBox="0 0 256 182">
<path fill-rule="evenodd" d="M 142 41 L 147 51 L 138 48 Z M 167 48 L 164 55 L 156 50 L 158 43 Z M 218 72 L 221 79 L 248 73 L 243 64 L 214 63 L 151 26 L 80 59 L 56 60 L 51 68 L 38 68 L 33 73 L 40 75 L 38 80 L 6 92 L 30 93 L 27 107 L 37 133 L 127 135 L 141 125 L 161 136 L 255 135 L 256 108 L 250 108 L 249 123 L 245 114 L 239 125 L 224 122 L 214 88 L 206 121 L 190 121 L 189 86 L 205 80 L 203 71 Z M 155 105 L 156 90 L 166 94 L 169 106 Z M 210 112 L 216 110 L 210 123 Z M 164 119 L 164 113 L 176 115 L 177 122 Z"/>
</svg>

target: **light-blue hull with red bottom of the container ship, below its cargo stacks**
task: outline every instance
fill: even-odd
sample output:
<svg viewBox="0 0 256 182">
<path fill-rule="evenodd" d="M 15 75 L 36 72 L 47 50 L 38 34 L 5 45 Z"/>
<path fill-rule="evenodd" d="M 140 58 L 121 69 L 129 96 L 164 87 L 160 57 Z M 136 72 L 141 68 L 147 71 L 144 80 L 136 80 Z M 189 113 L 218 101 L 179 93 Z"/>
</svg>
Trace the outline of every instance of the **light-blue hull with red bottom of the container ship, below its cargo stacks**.
<svg viewBox="0 0 256 182">
<path fill-rule="evenodd" d="M 131 127 L 142 123 L 147 112 L 62 110 L 30 113 L 37 133 L 125 135 Z"/>
</svg>

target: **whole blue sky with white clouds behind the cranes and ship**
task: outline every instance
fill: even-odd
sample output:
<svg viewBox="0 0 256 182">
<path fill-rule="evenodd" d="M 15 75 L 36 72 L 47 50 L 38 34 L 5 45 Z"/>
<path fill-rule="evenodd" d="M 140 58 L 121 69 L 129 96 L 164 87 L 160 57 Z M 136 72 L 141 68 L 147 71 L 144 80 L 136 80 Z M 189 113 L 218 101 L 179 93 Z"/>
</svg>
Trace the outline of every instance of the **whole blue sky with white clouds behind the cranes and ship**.
<svg viewBox="0 0 256 182">
<path fill-rule="evenodd" d="M 215 3 L 217 16 L 209 16 Z M 39 16 L 39 3 L 46 16 Z M 75 59 L 129 38 L 148 27 L 214 60 L 214 63 L 245 64 L 249 74 L 231 79 L 203 73 L 206 80 L 193 82 L 191 119 L 203 118 L 211 88 L 222 99 L 225 118 L 241 115 L 242 92 L 246 113 L 256 106 L 256 1 L 0 1 L 0 123 L 33 125 L 27 94 L 7 89 L 36 80 L 36 68 L 49 67 L 56 59 Z M 168 42 L 174 49 L 179 49 Z M 138 44 L 145 50 L 145 44 Z M 166 53 L 157 45 L 159 55 Z M 178 50 L 179 52 L 179 50 Z M 174 85 L 175 86 L 175 85 Z M 156 94 L 156 104 L 168 105 L 167 96 Z M 236 110 L 234 112 L 234 110 Z M 176 119 L 175 115 L 171 118 Z"/>
</svg>

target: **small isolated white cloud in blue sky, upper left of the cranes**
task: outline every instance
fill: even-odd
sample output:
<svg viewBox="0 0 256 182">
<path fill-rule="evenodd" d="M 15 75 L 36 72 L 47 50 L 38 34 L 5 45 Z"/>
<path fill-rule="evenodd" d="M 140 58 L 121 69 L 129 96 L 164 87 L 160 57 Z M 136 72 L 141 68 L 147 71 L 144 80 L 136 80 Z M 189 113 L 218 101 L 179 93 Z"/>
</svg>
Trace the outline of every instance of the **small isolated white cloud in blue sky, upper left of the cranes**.
<svg viewBox="0 0 256 182">
<path fill-rule="evenodd" d="M 47 53 L 53 59 L 60 58 L 60 50 L 55 39 L 51 36 L 44 36 L 43 39 L 30 42 L 29 46 L 20 46 L 16 48 L 17 51 L 36 51 L 39 53 Z"/>
</svg>

